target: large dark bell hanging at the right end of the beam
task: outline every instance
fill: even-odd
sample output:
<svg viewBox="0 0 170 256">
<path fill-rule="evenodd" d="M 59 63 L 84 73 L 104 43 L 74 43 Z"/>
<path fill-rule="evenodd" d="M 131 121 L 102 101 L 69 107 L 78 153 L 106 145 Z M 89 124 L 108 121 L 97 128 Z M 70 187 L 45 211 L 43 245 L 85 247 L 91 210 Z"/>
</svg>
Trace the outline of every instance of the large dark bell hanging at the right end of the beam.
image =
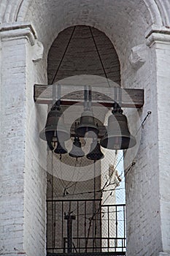
<svg viewBox="0 0 170 256">
<path fill-rule="evenodd" d="M 101 146 L 108 149 L 127 149 L 136 145 L 136 139 L 128 129 L 128 121 L 123 110 L 112 111 L 108 119 L 107 133 L 101 139 Z"/>
</svg>

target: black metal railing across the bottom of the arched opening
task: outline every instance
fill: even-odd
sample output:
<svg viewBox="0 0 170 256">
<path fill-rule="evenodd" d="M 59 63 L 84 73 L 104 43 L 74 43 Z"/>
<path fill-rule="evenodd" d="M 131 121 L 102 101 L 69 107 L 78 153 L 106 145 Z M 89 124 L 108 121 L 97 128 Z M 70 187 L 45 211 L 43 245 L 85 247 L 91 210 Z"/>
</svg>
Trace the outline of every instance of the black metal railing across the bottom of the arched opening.
<svg viewBox="0 0 170 256">
<path fill-rule="evenodd" d="M 47 200 L 47 252 L 125 252 L 125 205 Z"/>
</svg>

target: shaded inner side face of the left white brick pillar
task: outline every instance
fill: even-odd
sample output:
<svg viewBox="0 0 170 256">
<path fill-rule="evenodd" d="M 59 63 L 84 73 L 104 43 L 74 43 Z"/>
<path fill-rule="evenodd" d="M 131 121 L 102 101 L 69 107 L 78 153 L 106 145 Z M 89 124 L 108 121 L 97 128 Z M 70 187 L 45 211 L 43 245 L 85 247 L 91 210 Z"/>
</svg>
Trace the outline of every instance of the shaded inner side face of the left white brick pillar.
<svg viewBox="0 0 170 256">
<path fill-rule="evenodd" d="M 45 255 L 46 247 L 46 145 L 39 139 L 47 108 L 36 107 L 34 83 L 43 76 L 41 61 L 34 64 L 34 49 L 26 55 L 26 171 L 24 184 L 24 250 L 27 255 Z M 38 67 L 37 67 L 38 66 Z M 39 69 L 40 70 L 39 70 Z M 37 75 L 37 76 L 36 76 Z M 45 81 L 45 76 L 43 77 Z M 43 111 L 43 110 L 46 111 Z M 41 127 L 41 129 L 40 129 Z"/>
</svg>

